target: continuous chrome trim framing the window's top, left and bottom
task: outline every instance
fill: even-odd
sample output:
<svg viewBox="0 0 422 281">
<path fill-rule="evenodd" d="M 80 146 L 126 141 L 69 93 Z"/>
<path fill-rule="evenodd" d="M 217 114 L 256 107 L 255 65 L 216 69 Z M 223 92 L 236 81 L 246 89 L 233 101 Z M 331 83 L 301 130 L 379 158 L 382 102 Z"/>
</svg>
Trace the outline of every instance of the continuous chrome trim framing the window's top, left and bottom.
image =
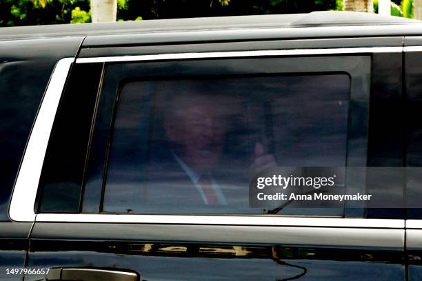
<svg viewBox="0 0 422 281">
<path fill-rule="evenodd" d="M 313 54 L 356 54 L 375 52 L 403 52 L 403 47 L 334 48 L 305 50 L 264 50 L 239 52 L 205 52 L 156 54 L 140 56 L 110 56 L 76 59 L 77 63 L 152 61 L 172 59 L 207 59 L 252 56 L 290 56 Z M 19 222 L 123 222 L 192 225 L 273 225 L 308 227 L 365 227 L 403 229 L 404 220 L 362 218 L 307 218 L 283 216 L 178 216 L 178 215 L 117 215 L 117 214 L 35 214 L 34 204 L 44 156 L 50 138 L 54 116 L 74 58 L 61 59 L 52 72 L 46 94 L 32 128 L 23 156 L 21 169 L 14 185 L 9 216 Z"/>
</svg>

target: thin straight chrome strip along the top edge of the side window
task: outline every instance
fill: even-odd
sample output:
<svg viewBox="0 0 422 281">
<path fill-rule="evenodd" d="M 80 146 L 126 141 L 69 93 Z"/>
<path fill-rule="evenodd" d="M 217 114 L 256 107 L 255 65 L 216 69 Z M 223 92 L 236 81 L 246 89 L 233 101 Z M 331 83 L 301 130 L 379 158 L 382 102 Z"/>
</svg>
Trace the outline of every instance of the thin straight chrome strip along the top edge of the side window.
<svg viewBox="0 0 422 281">
<path fill-rule="evenodd" d="M 327 49 L 294 49 L 294 50 L 261 50 L 239 52 L 198 52 L 175 54 L 145 54 L 139 56 L 101 56 L 79 58 L 77 63 L 109 63 L 122 61 L 161 61 L 171 59 L 212 59 L 248 56 L 299 56 L 314 54 L 363 54 L 379 52 L 403 52 L 403 47 L 368 47 L 368 48 L 327 48 Z"/>
</svg>

